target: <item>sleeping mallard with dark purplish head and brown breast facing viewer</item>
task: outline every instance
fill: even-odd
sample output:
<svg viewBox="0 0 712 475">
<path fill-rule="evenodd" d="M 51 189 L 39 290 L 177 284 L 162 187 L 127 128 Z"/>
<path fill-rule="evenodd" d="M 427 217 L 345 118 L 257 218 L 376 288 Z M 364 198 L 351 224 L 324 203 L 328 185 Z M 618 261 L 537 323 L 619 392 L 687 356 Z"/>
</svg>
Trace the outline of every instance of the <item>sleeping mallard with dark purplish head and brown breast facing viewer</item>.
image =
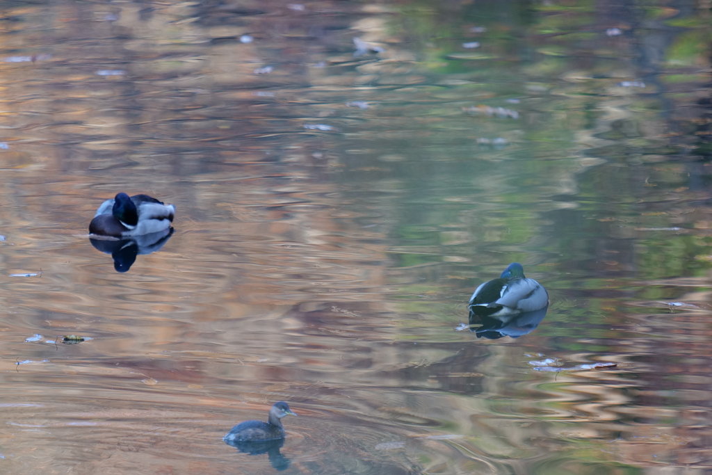
<svg viewBox="0 0 712 475">
<path fill-rule="evenodd" d="M 129 197 L 119 193 L 96 210 L 89 232 L 117 238 L 156 233 L 171 226 L 175 211 L 172 204 L 163 204 L 147 194 Z"/>
</svg>

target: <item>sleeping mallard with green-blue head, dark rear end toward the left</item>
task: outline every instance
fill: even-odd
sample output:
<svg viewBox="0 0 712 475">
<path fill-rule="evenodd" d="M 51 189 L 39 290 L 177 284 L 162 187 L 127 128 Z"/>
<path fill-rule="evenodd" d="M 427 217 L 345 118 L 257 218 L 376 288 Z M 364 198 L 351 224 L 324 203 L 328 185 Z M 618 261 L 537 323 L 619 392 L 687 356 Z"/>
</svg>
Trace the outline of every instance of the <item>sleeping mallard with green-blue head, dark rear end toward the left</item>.
<svg viewBox="0 0 712 475">
<path fill-rule="evenodd" d="M 470 312 L 504 318 L 540 310 L 549 305 L 549 294 L 540 283 L 524 276 L 524 268 L 513 262 L 499 278 L 481 284 L 470 298 Z"/>
</svg>

